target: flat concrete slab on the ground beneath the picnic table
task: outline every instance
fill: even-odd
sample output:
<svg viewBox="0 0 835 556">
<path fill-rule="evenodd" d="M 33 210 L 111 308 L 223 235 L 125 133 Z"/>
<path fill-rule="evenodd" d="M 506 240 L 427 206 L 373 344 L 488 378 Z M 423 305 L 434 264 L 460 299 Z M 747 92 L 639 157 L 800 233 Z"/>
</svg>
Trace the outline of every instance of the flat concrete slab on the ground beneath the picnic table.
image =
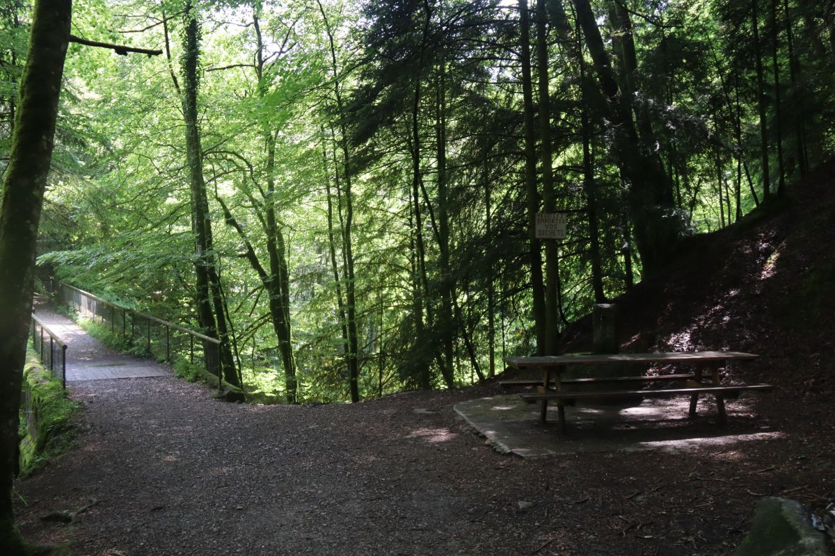
<svg viewBox="0 0 835 556">
<path fill-rule="evenodd" d="M 544 458 L 580 452 L 658 450 L 688 451 L 778 438 L 772 424 L 747 411 L 742 401 L 728 405 L 728 424 L 716 422 L 716 407 L 699 404 L 699 416 L 687 417 L 689 399 L 649 399 L 633 407 L 567 406 L 568 433 L 559 432 L 557 408 L 549 406 L 539 422 L 539 404 L 518 394 L 478 398 L 455 405 L 455 411 L 501 453 Z"/>
</svg>

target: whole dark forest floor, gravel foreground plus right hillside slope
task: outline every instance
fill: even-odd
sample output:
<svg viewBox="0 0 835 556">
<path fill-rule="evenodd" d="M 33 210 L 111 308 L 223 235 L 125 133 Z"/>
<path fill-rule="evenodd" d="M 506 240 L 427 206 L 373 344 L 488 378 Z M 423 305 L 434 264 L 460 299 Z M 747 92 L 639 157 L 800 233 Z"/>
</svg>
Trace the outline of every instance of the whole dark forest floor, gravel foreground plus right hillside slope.
<svg viewBox="0 0 835 556">
<path fill-rule="evenodd" d="M 833 175 L 691 239 L 617 300 L 627 349 L 760 353 L 731 379 L 777 386 L 749 401 L 782 437 L 523 460 L 453 412 L 494 382 L 314 407 L 220 403 L 175 378 L 77 383 L 83 433 L 18 484 L 21 528 L 109 556 L 731 553 L 762 496 L 819 509 L 835 492 Z"/>
</svg>

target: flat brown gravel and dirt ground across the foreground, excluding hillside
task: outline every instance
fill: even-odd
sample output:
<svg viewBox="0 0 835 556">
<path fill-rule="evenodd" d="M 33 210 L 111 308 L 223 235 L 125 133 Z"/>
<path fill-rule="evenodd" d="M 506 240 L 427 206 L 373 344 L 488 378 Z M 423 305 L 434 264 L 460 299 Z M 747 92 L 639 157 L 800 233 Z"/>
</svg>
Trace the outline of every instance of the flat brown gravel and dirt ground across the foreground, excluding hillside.
<svg viewBox="0 0 835 556">
<path fill-rule="evenodd" d="M 465 393 L 316 407 L 208 394 L 175 378 L 77 383 L 86 432 L 19 485 L 23 532 L 110 556 L 719 554 L 763 495 L 819 503 L 832 488 L 829 444 L 786 427 L 739 449 L 532 461 L 456 418 Z M 91 503 L 69 525 L 41 519 Z"/>
</svg>

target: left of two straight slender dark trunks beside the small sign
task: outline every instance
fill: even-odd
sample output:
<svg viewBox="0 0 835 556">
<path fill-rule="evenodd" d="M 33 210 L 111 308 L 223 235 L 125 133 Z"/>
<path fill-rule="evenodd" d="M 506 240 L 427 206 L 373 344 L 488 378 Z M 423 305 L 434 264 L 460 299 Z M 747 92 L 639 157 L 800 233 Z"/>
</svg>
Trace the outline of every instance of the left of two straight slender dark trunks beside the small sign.
<svg viewBox="0 0 835 556">
<path fill-rule="evenodd" d="M 522 64 L 522 96 L 524 102 L 525 193 L 528 201 L 528 238 L 530 245 L 530 285 L 534 300 L 536 354 L 544 355 L 548 335 L 545 331 L 545 288 L 542 276 L 542 248 L 536 238 L 536 213 L 539 192 L 536 187 L 536 128 L 534 127 L 534 91 L 530 71 L 530 19 L 528 0 L 519 0 L 520 63 Z"/>
</svg>

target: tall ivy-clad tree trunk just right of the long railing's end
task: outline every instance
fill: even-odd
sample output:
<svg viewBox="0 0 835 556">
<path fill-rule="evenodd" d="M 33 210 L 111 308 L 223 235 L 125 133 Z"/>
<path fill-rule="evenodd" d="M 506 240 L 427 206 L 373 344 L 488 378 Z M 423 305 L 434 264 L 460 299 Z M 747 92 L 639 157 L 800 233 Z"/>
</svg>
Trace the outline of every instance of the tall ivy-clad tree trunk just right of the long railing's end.
<svg viewBox="0 0 835 556">
<path fill-rule="evenodd" d="M 200 58 L 200 28 L 195 7 L 185 3 L 183 38 L 183 118 L 185 148 L 188 159 L 191 191 L 192 228 L 195 233 L 196 302 L 200 327 L 205 334 L 220 339 L 220 372 L 226 382 L 240 387 L 235 359 L 229 345 L 229 334 L 220 298 L 220 277 L 212 251 L 209 201 L 203 177 L 203 151 L 200 147 L 200 126 L 197 115 L 197 77 Z M 212 307 L 214 305 L 214 308 Z M 209 353 L 209 350 L 205 350 Z"/>
</svg>

